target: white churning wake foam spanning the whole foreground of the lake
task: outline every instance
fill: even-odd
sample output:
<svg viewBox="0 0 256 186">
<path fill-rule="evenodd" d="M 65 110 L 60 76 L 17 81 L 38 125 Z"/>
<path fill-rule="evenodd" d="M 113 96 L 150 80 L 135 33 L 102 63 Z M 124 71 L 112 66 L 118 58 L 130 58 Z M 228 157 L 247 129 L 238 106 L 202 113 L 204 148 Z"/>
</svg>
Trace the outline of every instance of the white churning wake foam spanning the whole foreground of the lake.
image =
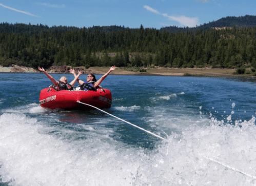
<svg viewBox="0 0 256 186">
<path fill-rule="evenodd" d="M 182 133 L 172 133 L 155 149 L 144 150 L 108 135 L 93 136 L 94 129 L 87 126 L 89 133 L 80 133 L 83 140 L 54 137 L 48 132 L 56 129 L 36 119 L 2 114 L 0 175 L 3 182 L 19 186 L 254 185 L 255 180 L 234 170 L 255 176 L 255 118 L 237 121 L 237 126 L 220 126 L 216 119 L 198 125 L 190 119 L 184 118 L 188 127 Z M 173 124 L 178 123 L 169 123 Z"/>
</svg>

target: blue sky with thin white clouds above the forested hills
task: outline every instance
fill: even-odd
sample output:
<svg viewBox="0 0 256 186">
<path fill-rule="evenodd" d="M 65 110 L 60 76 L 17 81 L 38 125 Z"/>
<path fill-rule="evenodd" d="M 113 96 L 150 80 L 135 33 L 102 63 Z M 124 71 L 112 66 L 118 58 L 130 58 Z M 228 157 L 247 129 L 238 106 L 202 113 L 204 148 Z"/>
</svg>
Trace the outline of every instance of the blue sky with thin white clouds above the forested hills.
<svg viewBox="0 0 256 186">
<path fill-rule="evenodd" d="M 0 22 L 51 26 L 195 27 L 227 16 L 256 15 L 255 0 L 0 0 Z"/>
</svg>

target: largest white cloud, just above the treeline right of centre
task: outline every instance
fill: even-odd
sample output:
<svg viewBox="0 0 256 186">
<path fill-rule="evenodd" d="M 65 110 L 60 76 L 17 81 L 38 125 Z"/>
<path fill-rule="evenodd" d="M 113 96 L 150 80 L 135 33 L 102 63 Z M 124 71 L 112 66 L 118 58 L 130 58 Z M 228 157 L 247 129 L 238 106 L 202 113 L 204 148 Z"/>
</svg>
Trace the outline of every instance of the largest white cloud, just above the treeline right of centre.
<svg viewBox="0 0 256 186">
<path fill-rule="evenodd" d="M 167 17 L 169 20 L 174 20 L 179 22 L 181 25 L 186 27 L 195 27 L 200 25 L 198 17 L 186 17 L 186 16 L 169 16 L 167 14 L 162 14 L 164 17 Z"/>
</svg>

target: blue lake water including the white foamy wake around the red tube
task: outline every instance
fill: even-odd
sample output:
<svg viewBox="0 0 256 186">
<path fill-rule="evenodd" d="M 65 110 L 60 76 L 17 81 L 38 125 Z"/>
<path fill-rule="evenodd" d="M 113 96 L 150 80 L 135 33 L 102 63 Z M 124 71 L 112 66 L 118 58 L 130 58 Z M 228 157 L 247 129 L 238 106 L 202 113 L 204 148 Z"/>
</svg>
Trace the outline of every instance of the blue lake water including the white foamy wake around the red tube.
<svg viewBox="0 0 256 186">
<path fill-rule="evenodd" d="M 256 185 L 255 82 L 109 75 L 104 111 L 161 140 L 97 110 L 43 109 L 43 73 L 0 73 L 0 185 Z"/>
</svg>

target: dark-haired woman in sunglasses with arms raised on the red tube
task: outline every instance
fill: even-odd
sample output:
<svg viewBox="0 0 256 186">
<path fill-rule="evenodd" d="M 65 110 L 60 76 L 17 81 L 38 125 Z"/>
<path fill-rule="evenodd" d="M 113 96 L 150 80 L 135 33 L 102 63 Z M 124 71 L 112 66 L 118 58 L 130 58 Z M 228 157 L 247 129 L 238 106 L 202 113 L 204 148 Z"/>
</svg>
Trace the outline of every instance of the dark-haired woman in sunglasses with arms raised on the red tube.
<svg viewBox="0 0 256 186">
<path fill-rule="evenodd" d="M 78 77 L 83 74 L 82 72 L 78 71 L 78 74 L 76 75 L 75 74 L 75 70 L 74 69 L 70 69 L 69 72 L 71 74 L 74 75 L 75 78 L 77 78 L 77 82 L 81 85 L 80 86 L 80 90 L 96 90 L 100 84 L 102 83 L 102 81 L 108 76 L 108 74 L 115 70 L 115 66 L 111 67 L 109 69 L 109 71 L 104 74 L 99 80 L 96 80 L 94 74 L 88 74 L 87 77 L 86 77 L 86 81 L 83 81 L 81 79 L 78 79 Z"/>
</svg>

